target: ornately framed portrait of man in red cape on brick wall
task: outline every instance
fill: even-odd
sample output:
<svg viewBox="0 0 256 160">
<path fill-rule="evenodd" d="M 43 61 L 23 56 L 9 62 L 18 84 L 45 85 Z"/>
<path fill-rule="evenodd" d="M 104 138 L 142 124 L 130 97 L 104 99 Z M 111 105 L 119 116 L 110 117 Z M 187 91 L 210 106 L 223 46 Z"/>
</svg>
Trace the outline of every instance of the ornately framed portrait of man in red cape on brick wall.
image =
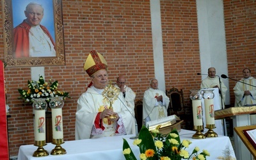
<svg viewBox="0 0 256 160">
<path fill-rule="evenodd" d="M 2 0 L 6 67 L 65 65 L 61 0 Z"/>
</svg>

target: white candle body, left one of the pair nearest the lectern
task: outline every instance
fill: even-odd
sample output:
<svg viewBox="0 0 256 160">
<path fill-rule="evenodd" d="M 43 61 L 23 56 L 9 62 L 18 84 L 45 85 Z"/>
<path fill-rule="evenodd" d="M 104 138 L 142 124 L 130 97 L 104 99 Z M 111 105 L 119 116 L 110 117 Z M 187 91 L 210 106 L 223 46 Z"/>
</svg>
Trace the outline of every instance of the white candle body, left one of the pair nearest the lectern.
<svg viewBox="0 0 256 160">
<path fill-rule="evenodd" d="M 192 100 L 193 122 L 195 126 L 203 125 L 201 100 Z"/>
</svg>

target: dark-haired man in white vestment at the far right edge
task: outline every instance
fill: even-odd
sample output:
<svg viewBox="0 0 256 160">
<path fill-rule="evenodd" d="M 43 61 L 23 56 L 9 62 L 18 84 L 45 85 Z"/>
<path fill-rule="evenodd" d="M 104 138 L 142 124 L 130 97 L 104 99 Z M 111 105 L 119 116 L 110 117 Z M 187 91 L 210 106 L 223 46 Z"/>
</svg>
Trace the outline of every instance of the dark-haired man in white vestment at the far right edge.
<svg viewBox="0 0 256 160">
<path fill-rule="evenodd" d="M 236 97 L 235 107 L 256 104 L 256 79 L 251 76 L 251 70 L 244 68 L 243 78 L 236 83 L 234 93 Z M 246 84 L 244 84 L 246 83 Z M 256 115 L 251 115 L 251 124 L 256 124 Z"/>
</svg>

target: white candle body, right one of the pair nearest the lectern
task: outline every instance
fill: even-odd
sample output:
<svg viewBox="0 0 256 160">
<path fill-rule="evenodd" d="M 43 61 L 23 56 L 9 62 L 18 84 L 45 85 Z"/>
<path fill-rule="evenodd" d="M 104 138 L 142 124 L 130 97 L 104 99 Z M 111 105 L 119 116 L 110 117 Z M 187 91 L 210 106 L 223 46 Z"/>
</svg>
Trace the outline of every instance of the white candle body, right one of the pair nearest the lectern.
<svg viewBox="0 0 256 160">
<path fill-rule="evenodd" d="M 215 124 L 213 99 L 204 99 L 206 124 Z"/>
</svg>

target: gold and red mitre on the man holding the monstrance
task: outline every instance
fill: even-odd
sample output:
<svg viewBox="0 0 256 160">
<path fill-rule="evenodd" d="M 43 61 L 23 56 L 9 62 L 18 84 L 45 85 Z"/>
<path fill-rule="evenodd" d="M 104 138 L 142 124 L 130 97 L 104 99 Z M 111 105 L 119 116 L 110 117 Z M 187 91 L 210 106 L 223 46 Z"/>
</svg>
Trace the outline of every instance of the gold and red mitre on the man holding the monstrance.
<svg viewBox="0 0 256 160">
<path fill-rule="evenodd" d="M 108 64 L 99 52 L 92 50 L 84 63 L 84 70 L 92 77 L 99 70 L 108 70 Z"/>
</svg>

